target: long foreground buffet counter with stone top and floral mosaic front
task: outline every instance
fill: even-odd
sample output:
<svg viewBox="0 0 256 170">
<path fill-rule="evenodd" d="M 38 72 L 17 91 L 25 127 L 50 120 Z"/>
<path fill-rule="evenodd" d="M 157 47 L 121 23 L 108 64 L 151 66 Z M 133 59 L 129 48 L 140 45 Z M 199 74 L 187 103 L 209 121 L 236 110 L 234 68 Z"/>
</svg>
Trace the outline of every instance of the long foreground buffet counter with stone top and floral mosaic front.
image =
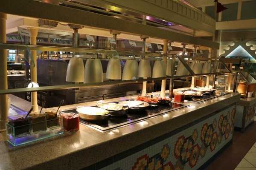
<svg viewBox="0 0 256 170">
<path fill-rule="evenodd" d="M 180 89 L 175 89 L 180 90 Z M 168 93 L 168 91 L 166 91 Z M 29 111 L 30 103 L 11 97 L 12 105 Z M 131 96 L 106 99 L 115 102 Z M 175 110 L 105 133 L 80 124 L 77 131 L 13 147 L 0 133 L 0 169 L 138 169 L 140 166 L 200 169 L 209 165 L 233 139 L 234 114 L 240 94 L 230 93 L 200 103 L 184 102 Z M 95 106 L 97 101 L 61 106 Z M 52 108 L 52 109 L 57 109 Z"/>
</svg>

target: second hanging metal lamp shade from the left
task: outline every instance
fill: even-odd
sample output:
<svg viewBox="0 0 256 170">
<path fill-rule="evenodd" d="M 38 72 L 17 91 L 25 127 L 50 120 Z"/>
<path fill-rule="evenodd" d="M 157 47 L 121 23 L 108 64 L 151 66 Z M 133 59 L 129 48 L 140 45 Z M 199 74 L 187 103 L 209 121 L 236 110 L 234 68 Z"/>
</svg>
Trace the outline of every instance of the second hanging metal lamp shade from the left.
<svg viewBox="0 0 256 170">
<path fill-rule="evenodd" d="M 84 66 L 84 83 L 103 82 L 100 59 L 87 59 Z"/>
</svg>

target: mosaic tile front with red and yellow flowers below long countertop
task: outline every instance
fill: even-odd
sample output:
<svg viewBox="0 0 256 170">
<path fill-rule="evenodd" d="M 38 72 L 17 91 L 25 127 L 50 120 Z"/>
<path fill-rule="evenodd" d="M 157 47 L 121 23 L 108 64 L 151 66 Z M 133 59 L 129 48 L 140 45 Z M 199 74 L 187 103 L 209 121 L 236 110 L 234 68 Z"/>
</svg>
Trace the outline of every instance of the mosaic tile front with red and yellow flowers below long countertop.
<svg viewBox="0 0 256 170">
<path fill-rule="evenodd" d="M 196 170 L 232 140 L 236 105 L 172 131 L 100 170 Z M 127 154 L 124 152 L 123 154 Z M 131 152 L 129 152 L 131 153 Z M 121 154 L 119 154 L 120 156 Z M 116 156 L 111 157 L 115 160 Z M 85 168 L 87 169 L 87 168 Z"/>
</svg>

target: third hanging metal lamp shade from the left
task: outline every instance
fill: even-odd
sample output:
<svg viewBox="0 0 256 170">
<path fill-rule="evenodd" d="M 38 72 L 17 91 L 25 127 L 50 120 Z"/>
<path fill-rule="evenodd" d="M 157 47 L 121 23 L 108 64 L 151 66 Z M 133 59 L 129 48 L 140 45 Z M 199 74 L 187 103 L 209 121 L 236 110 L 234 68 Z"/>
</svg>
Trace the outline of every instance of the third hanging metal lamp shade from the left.
<svg viewBox="0 0 256 170">
<path fill-rule="evenodd" d="M 119 59 L 114 59 L 114 58 L 109 59 L 106 78 L 121 79 L 121 63 Z"/>
</svg>

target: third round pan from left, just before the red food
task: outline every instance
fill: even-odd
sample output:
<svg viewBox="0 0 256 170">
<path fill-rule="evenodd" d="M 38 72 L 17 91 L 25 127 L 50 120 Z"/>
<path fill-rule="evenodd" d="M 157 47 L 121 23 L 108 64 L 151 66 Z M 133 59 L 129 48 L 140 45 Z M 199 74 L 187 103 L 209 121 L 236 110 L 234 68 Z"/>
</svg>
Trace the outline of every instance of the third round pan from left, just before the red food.
<svg viewBox="0 0 256 170">
<path fill-rule="evenodd" d="M 140 102 L 135 100 L 129 100 L 129 101 L 121 101 L 118 104 L 120 105 L 128 105 L 128 113 L 145 113 L 146 109 L 148 108 L 147 102 Z"/>
</svg>

